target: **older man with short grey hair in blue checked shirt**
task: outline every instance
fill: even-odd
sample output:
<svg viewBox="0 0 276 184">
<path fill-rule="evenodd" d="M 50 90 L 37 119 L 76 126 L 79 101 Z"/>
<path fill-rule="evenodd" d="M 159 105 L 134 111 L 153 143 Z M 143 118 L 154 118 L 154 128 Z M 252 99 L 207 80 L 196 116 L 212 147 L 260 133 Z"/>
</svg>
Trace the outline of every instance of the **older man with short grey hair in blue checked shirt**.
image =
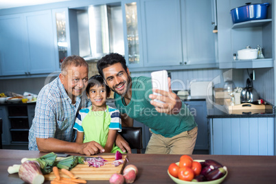
<svg viewBox="0 0 276 184">
<path fill-rule="evenodd" d="M 76 113 L 88 104 L 81 99 L 88 82 L 88 64 L 80 56 L 68 56 L 63 60 L 61 73 L 45 85 L 38 94 L 35 115 L 29 133 L 29 150 L 41 152 L 76 152 L 97 154 L 104 152 L 99 143 L 73 142 L 76 132 L 73 124 Z M 120 136 L 116 144 L 123 151 L 131 152 L 128 143 Z"/>
</svg>

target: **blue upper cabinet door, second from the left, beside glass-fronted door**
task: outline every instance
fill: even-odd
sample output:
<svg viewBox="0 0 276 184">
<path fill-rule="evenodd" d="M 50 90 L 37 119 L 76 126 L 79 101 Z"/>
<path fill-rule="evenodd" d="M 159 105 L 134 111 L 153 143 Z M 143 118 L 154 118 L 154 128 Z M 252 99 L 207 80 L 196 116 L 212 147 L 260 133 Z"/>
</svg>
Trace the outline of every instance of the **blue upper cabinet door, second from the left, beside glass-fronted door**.
<svg viewBox="0 0 276 184">
<path fill-rule="evenodd" d="M 51 73 L 56 71 L 58 60 L 54 51 L 54 30 L 51 10 L 25 15 L 30 49 L 28 72 Z"/>
</svg>

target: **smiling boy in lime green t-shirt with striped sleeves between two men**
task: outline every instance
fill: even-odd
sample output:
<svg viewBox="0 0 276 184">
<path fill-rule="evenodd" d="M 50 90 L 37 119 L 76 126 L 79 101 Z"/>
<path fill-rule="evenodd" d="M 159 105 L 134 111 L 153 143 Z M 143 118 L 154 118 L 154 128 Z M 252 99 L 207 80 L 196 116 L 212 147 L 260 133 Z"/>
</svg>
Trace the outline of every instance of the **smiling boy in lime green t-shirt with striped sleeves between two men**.
<svg viewBox="0 0 276 184">
<path fill-rule="evenodd" d="M 106 105 L 106 98 L 109 97 L 111 90 L 106 86 L 102 76 L 95 75 L 89 79 L 86 91 L 92 105 L 82 108 L 77 113 L 73 126 L 78 131 L 76 142 L 96 141 L 105 152 L 115 153 L 117 150 L 122 152 L 115 146 L 117 131 L 122 131 L 119 110 Z"/>
</svg>

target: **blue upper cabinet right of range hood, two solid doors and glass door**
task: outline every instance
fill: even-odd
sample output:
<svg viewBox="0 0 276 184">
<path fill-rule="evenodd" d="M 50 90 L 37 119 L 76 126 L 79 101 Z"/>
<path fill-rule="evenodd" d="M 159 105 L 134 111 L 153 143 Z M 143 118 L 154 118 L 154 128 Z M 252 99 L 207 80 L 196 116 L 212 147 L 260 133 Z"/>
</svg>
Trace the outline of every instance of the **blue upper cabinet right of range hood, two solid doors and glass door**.
<svg viewBox="0 0 276 184">
<path fill-rule="evenodd" d="M 216 67 L 212 3 L 123 1 L 130 71 Z"/>
</svg>

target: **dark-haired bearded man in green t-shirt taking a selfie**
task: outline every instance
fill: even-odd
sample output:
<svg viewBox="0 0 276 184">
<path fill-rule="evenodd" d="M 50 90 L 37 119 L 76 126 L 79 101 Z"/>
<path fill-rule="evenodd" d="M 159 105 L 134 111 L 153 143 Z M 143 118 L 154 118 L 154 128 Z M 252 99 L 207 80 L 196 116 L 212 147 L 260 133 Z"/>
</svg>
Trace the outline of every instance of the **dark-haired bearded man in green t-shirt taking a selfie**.
<svg viewBox="0 0 276 184">
<path fill-rule="evenodd" d="M 172 92 L 154 89 L 151 78 L 130 78 L 126 60 L 119 54 L 108 54 L 97 62 L 97 69 L 114 91 L 115 105 L 122 114 L 122 126 L 133 126 L 133 119 L 148 126 L 152 136 L 148 154 L 192 154 L 197 124 L 189 109 Z M 154 102 L 154 99 L 165 103 Z"/>
</svg>

